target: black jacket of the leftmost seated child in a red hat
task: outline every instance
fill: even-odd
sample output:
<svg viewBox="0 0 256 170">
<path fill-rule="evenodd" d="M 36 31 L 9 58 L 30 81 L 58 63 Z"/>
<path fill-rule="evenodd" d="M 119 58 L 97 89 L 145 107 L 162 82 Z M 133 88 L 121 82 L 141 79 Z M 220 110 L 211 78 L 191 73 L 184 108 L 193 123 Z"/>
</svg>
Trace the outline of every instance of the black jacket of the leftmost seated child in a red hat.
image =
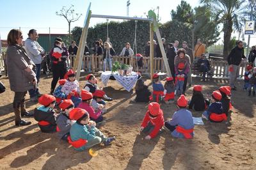
<svg viewBox="0 0 256 170">
<path fill-rule="evenodd" d="M 56 118 L 54 116 L 54 111 L 40 111 L 37 108 L 34 111 L 34 117 L 36 121 L 47 121 L 49 125 L 38 125 L 42 132 L 51 133 L 56 132 Z"/>
</svg>

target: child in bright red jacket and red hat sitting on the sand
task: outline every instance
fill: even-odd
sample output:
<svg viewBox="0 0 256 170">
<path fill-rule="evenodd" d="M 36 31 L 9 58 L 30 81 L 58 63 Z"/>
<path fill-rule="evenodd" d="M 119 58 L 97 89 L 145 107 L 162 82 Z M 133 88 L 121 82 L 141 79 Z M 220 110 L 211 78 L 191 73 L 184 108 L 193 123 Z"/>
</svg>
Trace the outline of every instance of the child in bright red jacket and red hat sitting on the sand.
<svg viewBox="0 0 256 170">
<path fill-rule="evenodd" d="M 156 137 L 163 125 L 164 116 L 160 105 L 157 102 L 148 104 L 148 111 L 140 126 L 140 132 L 148 134 L 145 139 L 149 140 Z"/>
</svg>

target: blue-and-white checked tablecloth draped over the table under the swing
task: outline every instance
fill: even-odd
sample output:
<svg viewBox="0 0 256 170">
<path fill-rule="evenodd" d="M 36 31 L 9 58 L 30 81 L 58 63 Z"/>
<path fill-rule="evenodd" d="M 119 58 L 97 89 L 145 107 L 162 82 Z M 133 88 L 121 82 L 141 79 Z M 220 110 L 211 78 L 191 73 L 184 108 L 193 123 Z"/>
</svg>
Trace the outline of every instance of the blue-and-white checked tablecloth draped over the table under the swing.
<svg viewBox="0 0 256 170">
<path fill-rule="evenodd" d="M 136 83 L 138 79 L 138 74 L 136 72 L 132 72 L 129 76 L 121 76 L 118 72 L 102 72 L 100 75 L 100 79 L 103 82 L 104 86 L 107 86 L 109 77 L 113 75 L 116 79 L 116 81 L 121 84 L 127 91 L 131 91 L 132 87 Z"/>
</svg>

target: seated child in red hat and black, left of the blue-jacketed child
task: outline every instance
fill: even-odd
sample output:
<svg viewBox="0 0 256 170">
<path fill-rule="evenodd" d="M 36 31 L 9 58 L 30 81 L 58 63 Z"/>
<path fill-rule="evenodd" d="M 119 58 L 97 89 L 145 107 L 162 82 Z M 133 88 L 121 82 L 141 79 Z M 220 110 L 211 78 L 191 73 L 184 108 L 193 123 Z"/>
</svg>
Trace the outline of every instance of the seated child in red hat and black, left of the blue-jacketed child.
<svg viewBox="0 0 256 170">
<path fill-rule="evenodd" d="M 202 94 L 202 86 L 195 85 L 193 88 L 193 95 L 189 101 L 189 109 L 194 109 L 195 111 L 204 111 L 205 110 L 205 98 Z"/>
</svg>

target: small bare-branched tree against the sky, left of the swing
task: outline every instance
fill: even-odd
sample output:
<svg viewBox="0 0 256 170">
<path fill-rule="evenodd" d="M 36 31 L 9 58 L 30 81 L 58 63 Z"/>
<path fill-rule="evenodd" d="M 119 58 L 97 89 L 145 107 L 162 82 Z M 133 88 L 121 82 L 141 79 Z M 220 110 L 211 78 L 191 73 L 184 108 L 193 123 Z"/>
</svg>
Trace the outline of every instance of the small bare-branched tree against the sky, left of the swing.
<svg viewBox="0 0 256 170">
<path fill-rule="evenodd" d="M 75 22 L 79 20 L 79 18 L 82 16 L 82 13 L 75 13 L 75 10 L 73 9 L 74 5 L 71 4 L 71 6 L 67 9 L 66 6 L 63 6 L 60 12 L 56 12 L 56 15 L 60 15 L 64 17 L 68 22 L 68 35 L 69 40 L 71 42 L 71 34 L 70 34 L 70 24 L 71 22 Z"/>
</svg>

